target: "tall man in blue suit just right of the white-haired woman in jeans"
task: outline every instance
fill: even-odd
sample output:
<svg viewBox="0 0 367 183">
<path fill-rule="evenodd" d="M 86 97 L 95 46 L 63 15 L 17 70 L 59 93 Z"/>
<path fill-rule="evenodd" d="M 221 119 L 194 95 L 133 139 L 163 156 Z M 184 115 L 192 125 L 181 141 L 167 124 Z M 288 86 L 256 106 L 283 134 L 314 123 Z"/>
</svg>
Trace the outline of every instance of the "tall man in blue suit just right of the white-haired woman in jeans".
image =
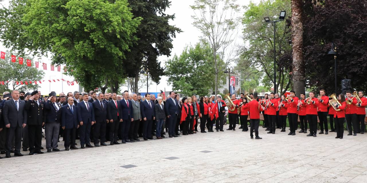
<svg viewBox="0 0 367 183">
<path fill-rule="evenodd" d="M 166 100 L 166 106 L 164 106 L 168 119 L 166 125 L 168 126 L 169 137 L 178 137 L 177 135 L 175 135 L 177 115 L 179 113 L 178 105 L 178 101 L 175 100 L 175 93 L 173 91 L 170 91 L 170 98 Z"/>
</svg>

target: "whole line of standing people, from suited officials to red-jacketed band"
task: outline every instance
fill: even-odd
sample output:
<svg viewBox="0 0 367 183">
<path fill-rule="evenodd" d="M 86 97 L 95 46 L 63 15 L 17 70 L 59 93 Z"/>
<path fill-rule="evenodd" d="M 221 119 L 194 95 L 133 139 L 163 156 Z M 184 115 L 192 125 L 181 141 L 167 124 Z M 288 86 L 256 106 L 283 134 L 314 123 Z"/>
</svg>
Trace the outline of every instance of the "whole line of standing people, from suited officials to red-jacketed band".
<svg viewBox="0 0 367 183">
<path fill-rule="evenodd" d="M 325 95 L 320 90 L 320 95 L 315 97 L 315 92 L 309 92 L 306 98 L 304 93 L 301 98 L 277 93 L 265 94 L 264 99 L 259 99 L 258 94 L 240 94 L 237 99 L 233 94 L 231 98 L 222 99 L 221 95 L 202 96 L 197 101 L 196 96 L 180 97 L 171 91 L 164 96 L 163 93 L 129 94 L 124 91 L 121 95 L 116 93 L 89 93 L 78 91 L 69 92 L 59 96 L 52 91 L 47 97 L 41 97 L 40 91 L 25 93 L 13 90 L 4 92 L 4 100 L 0 104 L 0 153 L 6 157 L 23 156 L 23 151 L 29 154 L 43 154 L 42 138 L 46 139 L 47 152 L 59 151 L 60 137 L 64 141 L 65 150 L 79 149 L 76 139 L 80 140 L 80 148 L 106 146 L 135 141 L 153 140 L 178 135 L 190 135 L 198 132 L 223 132 L 223 126 L 228 115 L 229 128 L 236 130 L 236 125 L 242 131 L 248 131 L 247 122 L 250 119 L 250 137 L 259 137 L 260 114 L 264 117 L 263 127 L 268 134 L 275 134 L 276 129 L 286 131 L 287 118 L 290 132 L 295 135 L 298 117 L 301 122 L 301 131 L 308 137 L 316 137 L 317 117 L 320 121 L 319 134 L 328 134 L 327 115 L 330 116 L 330 132 L 337 132 L 335 138 L 343 138 L 344 120 L 346 119 L 348 135 L 364 133 L 364 108 L 367 99 L 363 92 L 358 92 L 358 97 L 350 91 L 339 94 L 337 101 Z M 230 99 L 230 100 L 229 100 Z M 228 109 L 228 110 L 227 110 Z M 228 111 L 228 114 L 227 114 Z M 335 128 L 333 126 L 335 123 Z M 352 130 L 353 126 L 353 130 Z M 44 134 L 43 135 L 43 130 Z M 207 130 L 207 131 L 206 131 Z M 121 140 L 121 141 L 120 141 Z M 94 145 L 91 145 L 93 143 Z M 2 158 L 2 157 L 0 157 Z"/>
</svg>

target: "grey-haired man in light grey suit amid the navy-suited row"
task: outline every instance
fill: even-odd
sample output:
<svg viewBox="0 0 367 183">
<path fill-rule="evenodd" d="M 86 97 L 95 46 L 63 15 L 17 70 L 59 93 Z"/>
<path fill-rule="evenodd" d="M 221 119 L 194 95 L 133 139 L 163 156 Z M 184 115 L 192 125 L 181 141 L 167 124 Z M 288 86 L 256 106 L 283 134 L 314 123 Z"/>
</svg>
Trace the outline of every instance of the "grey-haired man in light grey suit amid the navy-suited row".
<svg viewBox="0 0 367 183">
<path fill-rule="evenodd" d="M 130 124 L 129 139 L 130 141 L 140 141 L 138 138 L 139 123 L 141 121 L 140 103 L 138 102 L 138 95 L 132 94 L 132 118 L 135 120 Z"/>
</svg>

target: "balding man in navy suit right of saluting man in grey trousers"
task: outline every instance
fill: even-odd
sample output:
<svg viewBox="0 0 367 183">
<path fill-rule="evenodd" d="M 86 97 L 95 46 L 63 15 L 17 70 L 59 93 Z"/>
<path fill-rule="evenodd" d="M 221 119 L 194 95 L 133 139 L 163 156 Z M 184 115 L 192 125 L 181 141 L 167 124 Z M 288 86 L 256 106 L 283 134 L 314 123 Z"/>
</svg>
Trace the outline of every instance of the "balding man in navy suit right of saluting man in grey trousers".
<svg viewBox="0 0 367 183">
<path fill-rule="evenodd" d="M 78 149 L 75 147 L 76 129 L 79 128 L 77 109 L 74 104 L 74 98 L 68 98 L 68 104 L 63 105 L 61 112 L 61 127 L 64 130 L 65 150 Z M 71 145 L 71 146 L 70 146 Z"/>
</svg>

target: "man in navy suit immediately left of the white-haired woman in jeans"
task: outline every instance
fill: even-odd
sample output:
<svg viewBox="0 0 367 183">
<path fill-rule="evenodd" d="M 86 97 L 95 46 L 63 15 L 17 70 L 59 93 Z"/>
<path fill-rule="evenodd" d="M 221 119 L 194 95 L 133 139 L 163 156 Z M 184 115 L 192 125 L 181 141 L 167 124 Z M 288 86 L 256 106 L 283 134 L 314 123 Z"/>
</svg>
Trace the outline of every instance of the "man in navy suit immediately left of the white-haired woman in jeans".
<svg viewBox="0 0 367 183">
<path fill-rule="evenodd" d="M 145 100 L 140 104 L 141 116 L 143 118 L 143 138 L 144 140 L 153 140 L 152 125 L 155 120 L 154 103 L 150 100 L 150 94 L 145 94 Z"/>
</svg>

